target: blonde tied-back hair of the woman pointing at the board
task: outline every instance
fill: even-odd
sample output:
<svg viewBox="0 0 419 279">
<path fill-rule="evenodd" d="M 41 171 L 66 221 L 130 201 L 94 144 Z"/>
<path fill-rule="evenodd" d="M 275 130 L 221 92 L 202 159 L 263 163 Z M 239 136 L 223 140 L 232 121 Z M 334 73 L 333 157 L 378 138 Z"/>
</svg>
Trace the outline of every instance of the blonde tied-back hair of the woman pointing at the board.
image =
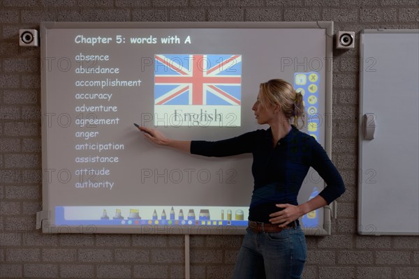
<svg viewBox="0 0 419 279">
<path fill-rule="evenodd" d="M 266 105 L 265 100 L 271 105 L 280 105 L 288 121 L 293 118 L 293 124 L 297 126 L 301 118 L 304 126 L 302 94 L 295 91 L 291 84 L 281 79 L 268 80 L 260 84 L 260 94 L 261 105 Z"/>
</svg>

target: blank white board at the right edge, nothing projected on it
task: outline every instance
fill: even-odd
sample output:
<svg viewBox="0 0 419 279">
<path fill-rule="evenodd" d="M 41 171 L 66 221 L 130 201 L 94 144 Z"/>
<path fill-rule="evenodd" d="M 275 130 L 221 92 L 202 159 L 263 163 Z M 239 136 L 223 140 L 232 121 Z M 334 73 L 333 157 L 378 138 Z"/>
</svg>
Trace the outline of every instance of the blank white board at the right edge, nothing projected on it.
<svg viewBox="0 0 419 279">
<path fill-rule="evenodd" d="M 360 51 L 358 232 L 418 235 L 419 31 L 364 30 Z"/>
</svg>

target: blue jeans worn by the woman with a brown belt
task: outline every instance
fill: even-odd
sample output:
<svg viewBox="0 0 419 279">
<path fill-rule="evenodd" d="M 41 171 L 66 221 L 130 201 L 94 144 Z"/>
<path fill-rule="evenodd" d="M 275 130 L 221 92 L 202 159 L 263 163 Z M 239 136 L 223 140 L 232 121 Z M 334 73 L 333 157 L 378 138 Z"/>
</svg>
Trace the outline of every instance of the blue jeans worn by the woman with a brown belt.
<svg viewBox="0 0 419 279">
<path fill-rule="evenodd" d="M 300 225 L 282 232 L 247 228 L 233 271 L 234 279 L 300 279 L 307 245 Z"/>
</svg>

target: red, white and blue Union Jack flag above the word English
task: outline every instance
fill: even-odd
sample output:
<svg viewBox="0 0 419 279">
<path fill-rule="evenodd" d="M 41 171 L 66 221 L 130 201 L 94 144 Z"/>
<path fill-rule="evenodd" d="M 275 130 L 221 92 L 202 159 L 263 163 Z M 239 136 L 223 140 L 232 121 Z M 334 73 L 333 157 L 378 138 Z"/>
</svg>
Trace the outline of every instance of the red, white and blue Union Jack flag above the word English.
<svg viewBox="0 0 419 279">
<path fill-rule="evenodd" d="M 155 105 L 240 105 L 242 56 L 156 54 Z"/>
</svg>

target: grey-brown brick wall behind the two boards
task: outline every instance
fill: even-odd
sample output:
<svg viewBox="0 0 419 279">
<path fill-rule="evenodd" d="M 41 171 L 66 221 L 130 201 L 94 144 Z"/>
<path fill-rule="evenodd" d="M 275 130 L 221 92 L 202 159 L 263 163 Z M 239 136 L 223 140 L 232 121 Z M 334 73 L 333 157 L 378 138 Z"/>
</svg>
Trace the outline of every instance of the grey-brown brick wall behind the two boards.
<svg viewBox="0 0 419 279">
<path fill-rule="evenodd" d="M 184 238 L 41 234 L 40 49 L 18 47 L 41 21 L 317 21 L 355 31 L 334 51 L 332 156 L 346 182 L 332 236 L 307 237 L 304 278 L 419 278 L 417 236 L 359 236 L 359 31 L 418 29 L 417 0 L 2 0 L 0 2 L 0 278 L 183 278 Z M 406 220 L 408 221 L 408 220 Z M 191 278 L 229 278 L 242 236 L 191 236 Z"/>
</svg>

